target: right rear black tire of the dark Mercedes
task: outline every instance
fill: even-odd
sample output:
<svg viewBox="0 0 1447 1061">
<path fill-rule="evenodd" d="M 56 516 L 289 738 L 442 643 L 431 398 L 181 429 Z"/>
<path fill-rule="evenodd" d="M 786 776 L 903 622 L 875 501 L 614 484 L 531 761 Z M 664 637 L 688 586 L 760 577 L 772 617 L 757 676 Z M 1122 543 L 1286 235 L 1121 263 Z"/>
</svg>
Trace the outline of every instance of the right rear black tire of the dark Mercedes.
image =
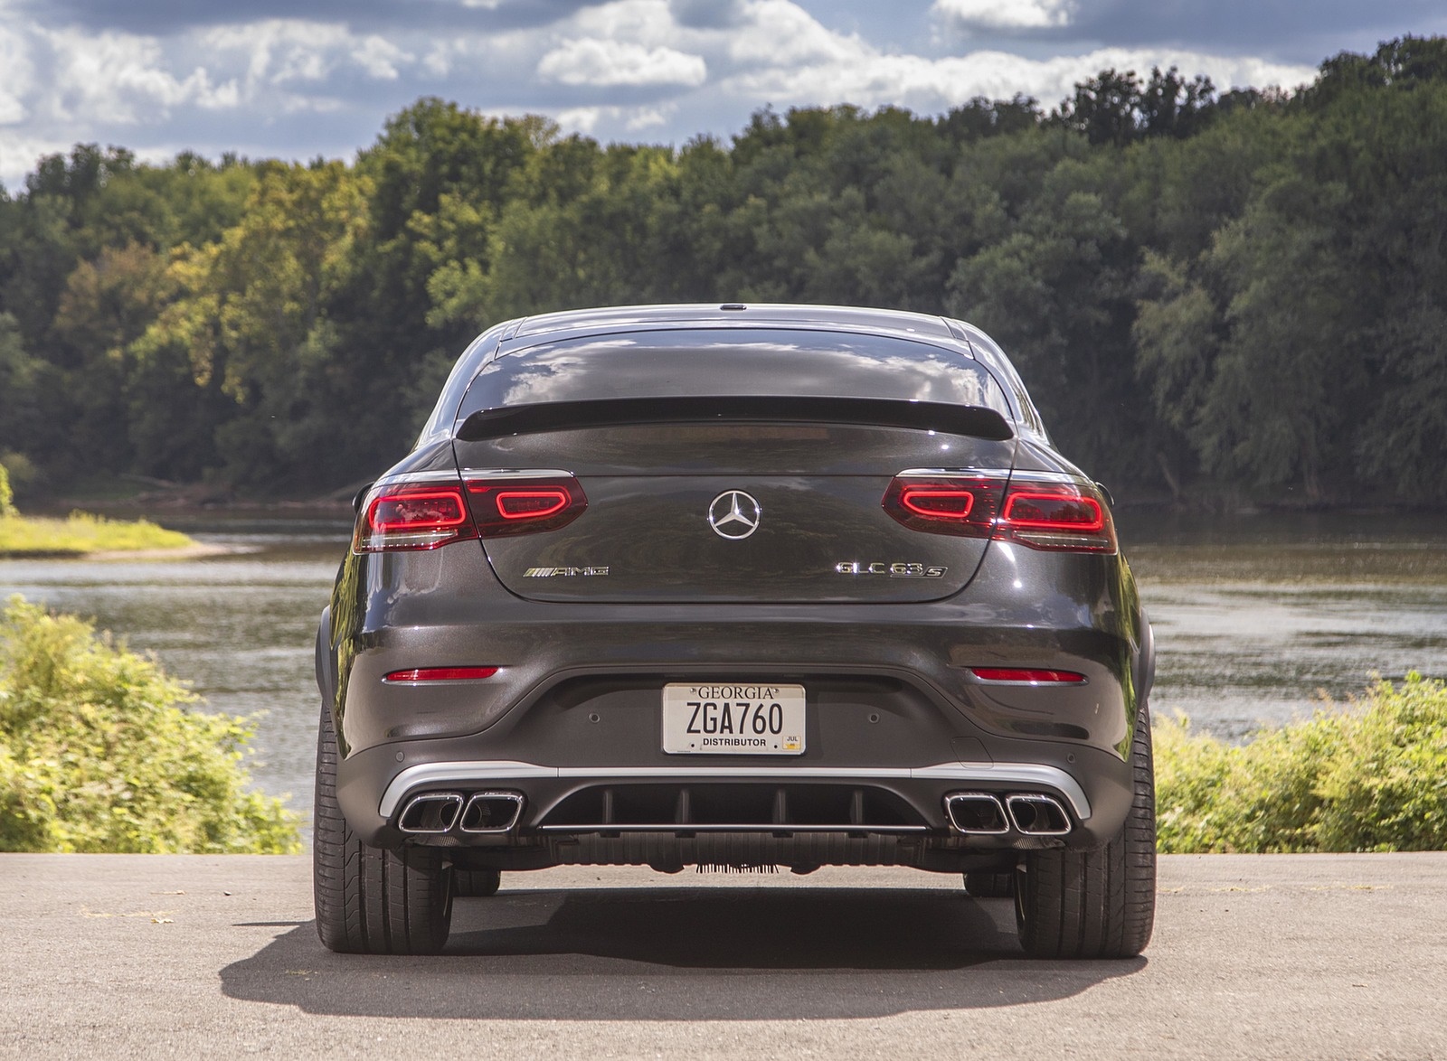
<svg viewBox="0 0 1447 1061">
<path fill-rule="evenodd" d="M 1156 916 L 1156 783 L 1150 710 L 1130 747 L 1134 799 L 1120 833 L 1094 851 L 1027 851 L 1016 870 L 1020 945 L 1039 958 L 1133 958 Z"/>
</svg>

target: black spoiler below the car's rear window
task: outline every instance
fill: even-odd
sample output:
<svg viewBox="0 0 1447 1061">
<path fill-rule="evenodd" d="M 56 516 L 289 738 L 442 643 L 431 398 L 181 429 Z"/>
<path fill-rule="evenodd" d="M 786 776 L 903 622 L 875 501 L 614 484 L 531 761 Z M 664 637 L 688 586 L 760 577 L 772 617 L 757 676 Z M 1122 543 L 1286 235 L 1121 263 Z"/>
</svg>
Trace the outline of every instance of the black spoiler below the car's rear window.
<svg viewBox="0 0 1447 1061">
<path fill-rule="evenodd" d="M 857 424 L 969 435 L 1003 442 L 1009 421 L 978 405 L 912 402 L 894 398 L 605 398 L 589 402 L 534 402 L 479 409 L 457 428 L 457 439 L 479 442 L 569 428 L 632 424 Z"/>
</svg>

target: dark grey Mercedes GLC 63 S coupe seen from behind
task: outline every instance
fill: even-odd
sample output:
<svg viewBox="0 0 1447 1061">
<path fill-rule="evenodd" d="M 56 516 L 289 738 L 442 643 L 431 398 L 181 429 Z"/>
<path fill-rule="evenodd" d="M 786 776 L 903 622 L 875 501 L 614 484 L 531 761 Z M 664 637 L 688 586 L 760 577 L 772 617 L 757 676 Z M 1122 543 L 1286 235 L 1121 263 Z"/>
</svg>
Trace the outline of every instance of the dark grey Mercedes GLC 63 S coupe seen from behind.
<svg viewBox="0 0 1447 1061">
<path fill-rule="evenodd" d="M 1110 497 L 941 317 L 501 324 L 357 499 L 317 639 L 315 903 L 434 953 L 559 864 L 912 866 L 1020 942 L 1150 937 L 1150 626 Z"/>
</svg>

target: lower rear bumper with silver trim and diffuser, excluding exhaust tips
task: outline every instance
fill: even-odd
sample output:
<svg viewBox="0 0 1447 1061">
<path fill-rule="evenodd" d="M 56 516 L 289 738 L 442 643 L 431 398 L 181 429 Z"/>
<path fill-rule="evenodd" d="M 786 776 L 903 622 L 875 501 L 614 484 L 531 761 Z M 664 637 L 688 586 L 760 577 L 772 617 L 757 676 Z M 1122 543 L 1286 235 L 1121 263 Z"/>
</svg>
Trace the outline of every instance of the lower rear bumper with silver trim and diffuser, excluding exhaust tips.
<svg viewBox="0 0 1447 1061">
<path fill-rule="evenodd" d="M 379 847 L 467 849 L 483 857 L 480 864 L 499 869 L 687 864 L 709 860 L 689 851 L 713 850 L 710 843 L 729 850 L 742 843 L 760 860 L 789 864 L 818 859 L 962 869 L 993 851 L 1097 847 L 1120 830 L 1132 798 L 1127 763 L 1051 742 L 1032 742 L 1033 762 L 985 755 L 980 762 L 919 766 L 557 766 L 483 759 L 476 740 L 407 742 L 341 762 L 337 798 L 353 831 Z M 420 756 L 425 762 L 417 762 Z M 1001 805 L 1010 796 L 1048 796 L 1064 808 L 1068 831 L 1032 834 L 1013 818 L 1000 831 L 962 830 L 948 811 L 949 798 L 962 794 L 994 795 Z M 457 799 L 441 828 L 404 831 L 415 798 L 443 795 Z M 506 815 L 499 828 L 469 824 L 463 808 L 479 795 L 515 796 L 515 817 Z"/>
</svg>

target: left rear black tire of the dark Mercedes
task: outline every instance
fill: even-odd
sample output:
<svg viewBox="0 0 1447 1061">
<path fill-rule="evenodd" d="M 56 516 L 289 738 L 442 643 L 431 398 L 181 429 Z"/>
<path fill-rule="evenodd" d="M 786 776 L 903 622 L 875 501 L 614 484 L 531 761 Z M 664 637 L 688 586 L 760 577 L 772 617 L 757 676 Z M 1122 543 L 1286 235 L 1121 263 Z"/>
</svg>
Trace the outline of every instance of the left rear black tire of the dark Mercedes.
<svg viewBox="0 0 1447 1061">
<path fill-rule="evenodd" d="M 428 847 L 368 847 L 337 805 L 337 739 L 323 705 L 311 840 L 317 935 L 339 954 L 437 954 L 451 928 L 451 866 Z"/>
</svg>

